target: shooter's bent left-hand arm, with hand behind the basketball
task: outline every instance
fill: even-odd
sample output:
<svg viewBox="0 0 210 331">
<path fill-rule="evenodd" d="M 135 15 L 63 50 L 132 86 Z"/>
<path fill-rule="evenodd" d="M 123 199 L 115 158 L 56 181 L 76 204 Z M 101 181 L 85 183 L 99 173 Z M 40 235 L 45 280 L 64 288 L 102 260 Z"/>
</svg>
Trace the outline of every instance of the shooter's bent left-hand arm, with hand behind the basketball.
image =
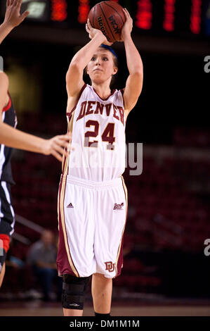
<svg viewBox="0 0 210 331">
<path fill-rule="evenodd" d="M 81 87 L 84 85 L 83 70 L 91 61 L 94 52 L 98 49 L 100 44 L 110 44 L 107 42 L 103 32 L 94 29 L 89 20 L 86 23 L 86 31 L 88 32 L 91 41 L 74 55 L 67 71 L 66 83 L 68 96 L 77 97 L 79 94 Z"/>
</svg>

